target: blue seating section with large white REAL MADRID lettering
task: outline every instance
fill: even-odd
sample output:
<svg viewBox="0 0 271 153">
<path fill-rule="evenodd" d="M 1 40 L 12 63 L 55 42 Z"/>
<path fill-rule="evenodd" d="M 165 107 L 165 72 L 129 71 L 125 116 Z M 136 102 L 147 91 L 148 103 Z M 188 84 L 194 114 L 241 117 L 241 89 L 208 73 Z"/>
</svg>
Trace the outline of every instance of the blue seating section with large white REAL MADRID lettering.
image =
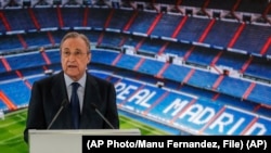
<svg viewBox="0 0 271 153">
<path fill-rule="evenodd" d="M 271 119 L 237 106 L 124 78 L 115 84 L 118 107 L 193 136 L 270 136 Z"/>
</svg>

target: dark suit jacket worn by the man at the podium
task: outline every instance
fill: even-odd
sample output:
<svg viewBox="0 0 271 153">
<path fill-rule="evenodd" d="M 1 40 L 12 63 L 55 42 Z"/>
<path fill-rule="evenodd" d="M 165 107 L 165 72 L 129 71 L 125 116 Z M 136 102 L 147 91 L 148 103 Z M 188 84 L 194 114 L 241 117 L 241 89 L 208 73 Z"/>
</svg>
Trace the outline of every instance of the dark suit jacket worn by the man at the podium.
<svg viewBox="0 0 271 153">
<path fill-rule="evenodd" d="M 28 142 L 28 129 L 47 129 L 65 99 L 69 101 L 64 72 L 34 82 L 24 130 L 26 142 Z M 113 84 L 87 74 L 79 126 L 80 129 L 109 129 L 108 124 L 99 116 L 90 103 L 96 105 L 116 129 L 119 128 L 116 91 Z M 62 110 L 50 129 L 73 129 L 69 103 Z"/>
</svg>

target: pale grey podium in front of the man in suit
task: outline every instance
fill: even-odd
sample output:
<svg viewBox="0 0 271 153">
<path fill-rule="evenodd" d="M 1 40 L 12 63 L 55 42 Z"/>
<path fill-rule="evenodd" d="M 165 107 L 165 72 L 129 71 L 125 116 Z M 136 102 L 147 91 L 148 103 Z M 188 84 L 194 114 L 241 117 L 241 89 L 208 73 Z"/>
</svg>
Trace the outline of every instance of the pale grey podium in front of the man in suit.
<svg viewBox="0 0 271 153">
<path fill-rule="evenodd" d="M 139 129 L 30 129 L 29 153 L 80 153 L 82 136 L 140 136 Z"/>
</svg>

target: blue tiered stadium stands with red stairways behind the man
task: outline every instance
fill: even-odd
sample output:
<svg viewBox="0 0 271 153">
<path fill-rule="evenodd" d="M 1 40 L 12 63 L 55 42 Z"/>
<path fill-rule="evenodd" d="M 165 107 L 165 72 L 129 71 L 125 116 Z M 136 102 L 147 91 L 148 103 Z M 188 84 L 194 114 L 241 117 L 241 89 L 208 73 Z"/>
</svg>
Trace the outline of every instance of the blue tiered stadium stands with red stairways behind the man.
<svg viewBox="0 0 271 153">
<path fill-rule="evenodd" d="M 1 7 L 0 110 L 7 113 L 27 107 L 31 84 L 61 69 L 61 38 L 79 30 L 91 40 L 89 71 L 115 84 L 122 113 L 177 135 L 271 133 L 267 0 Z"/>
</svg>

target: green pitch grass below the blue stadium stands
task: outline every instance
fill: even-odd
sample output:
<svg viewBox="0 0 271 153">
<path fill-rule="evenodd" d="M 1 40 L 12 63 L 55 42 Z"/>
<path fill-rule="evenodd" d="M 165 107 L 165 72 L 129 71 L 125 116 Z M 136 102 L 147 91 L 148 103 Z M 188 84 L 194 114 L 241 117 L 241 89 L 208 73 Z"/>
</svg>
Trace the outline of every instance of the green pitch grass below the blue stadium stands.
<svg viewBox="0 0 271 153">
<path fill-rule="evenodd" d="M 27 109 L 5 114 L 4 119 L 0 119 L 0 152 L 1 153 L 28 153 L 28 145 L 23 139 Z M 168 135 L 165 131 L 150 127 L 143 123 L 120 115 L 120 129 L 138 128 L 141 135 L 162 136 Z"/>
</svg>

